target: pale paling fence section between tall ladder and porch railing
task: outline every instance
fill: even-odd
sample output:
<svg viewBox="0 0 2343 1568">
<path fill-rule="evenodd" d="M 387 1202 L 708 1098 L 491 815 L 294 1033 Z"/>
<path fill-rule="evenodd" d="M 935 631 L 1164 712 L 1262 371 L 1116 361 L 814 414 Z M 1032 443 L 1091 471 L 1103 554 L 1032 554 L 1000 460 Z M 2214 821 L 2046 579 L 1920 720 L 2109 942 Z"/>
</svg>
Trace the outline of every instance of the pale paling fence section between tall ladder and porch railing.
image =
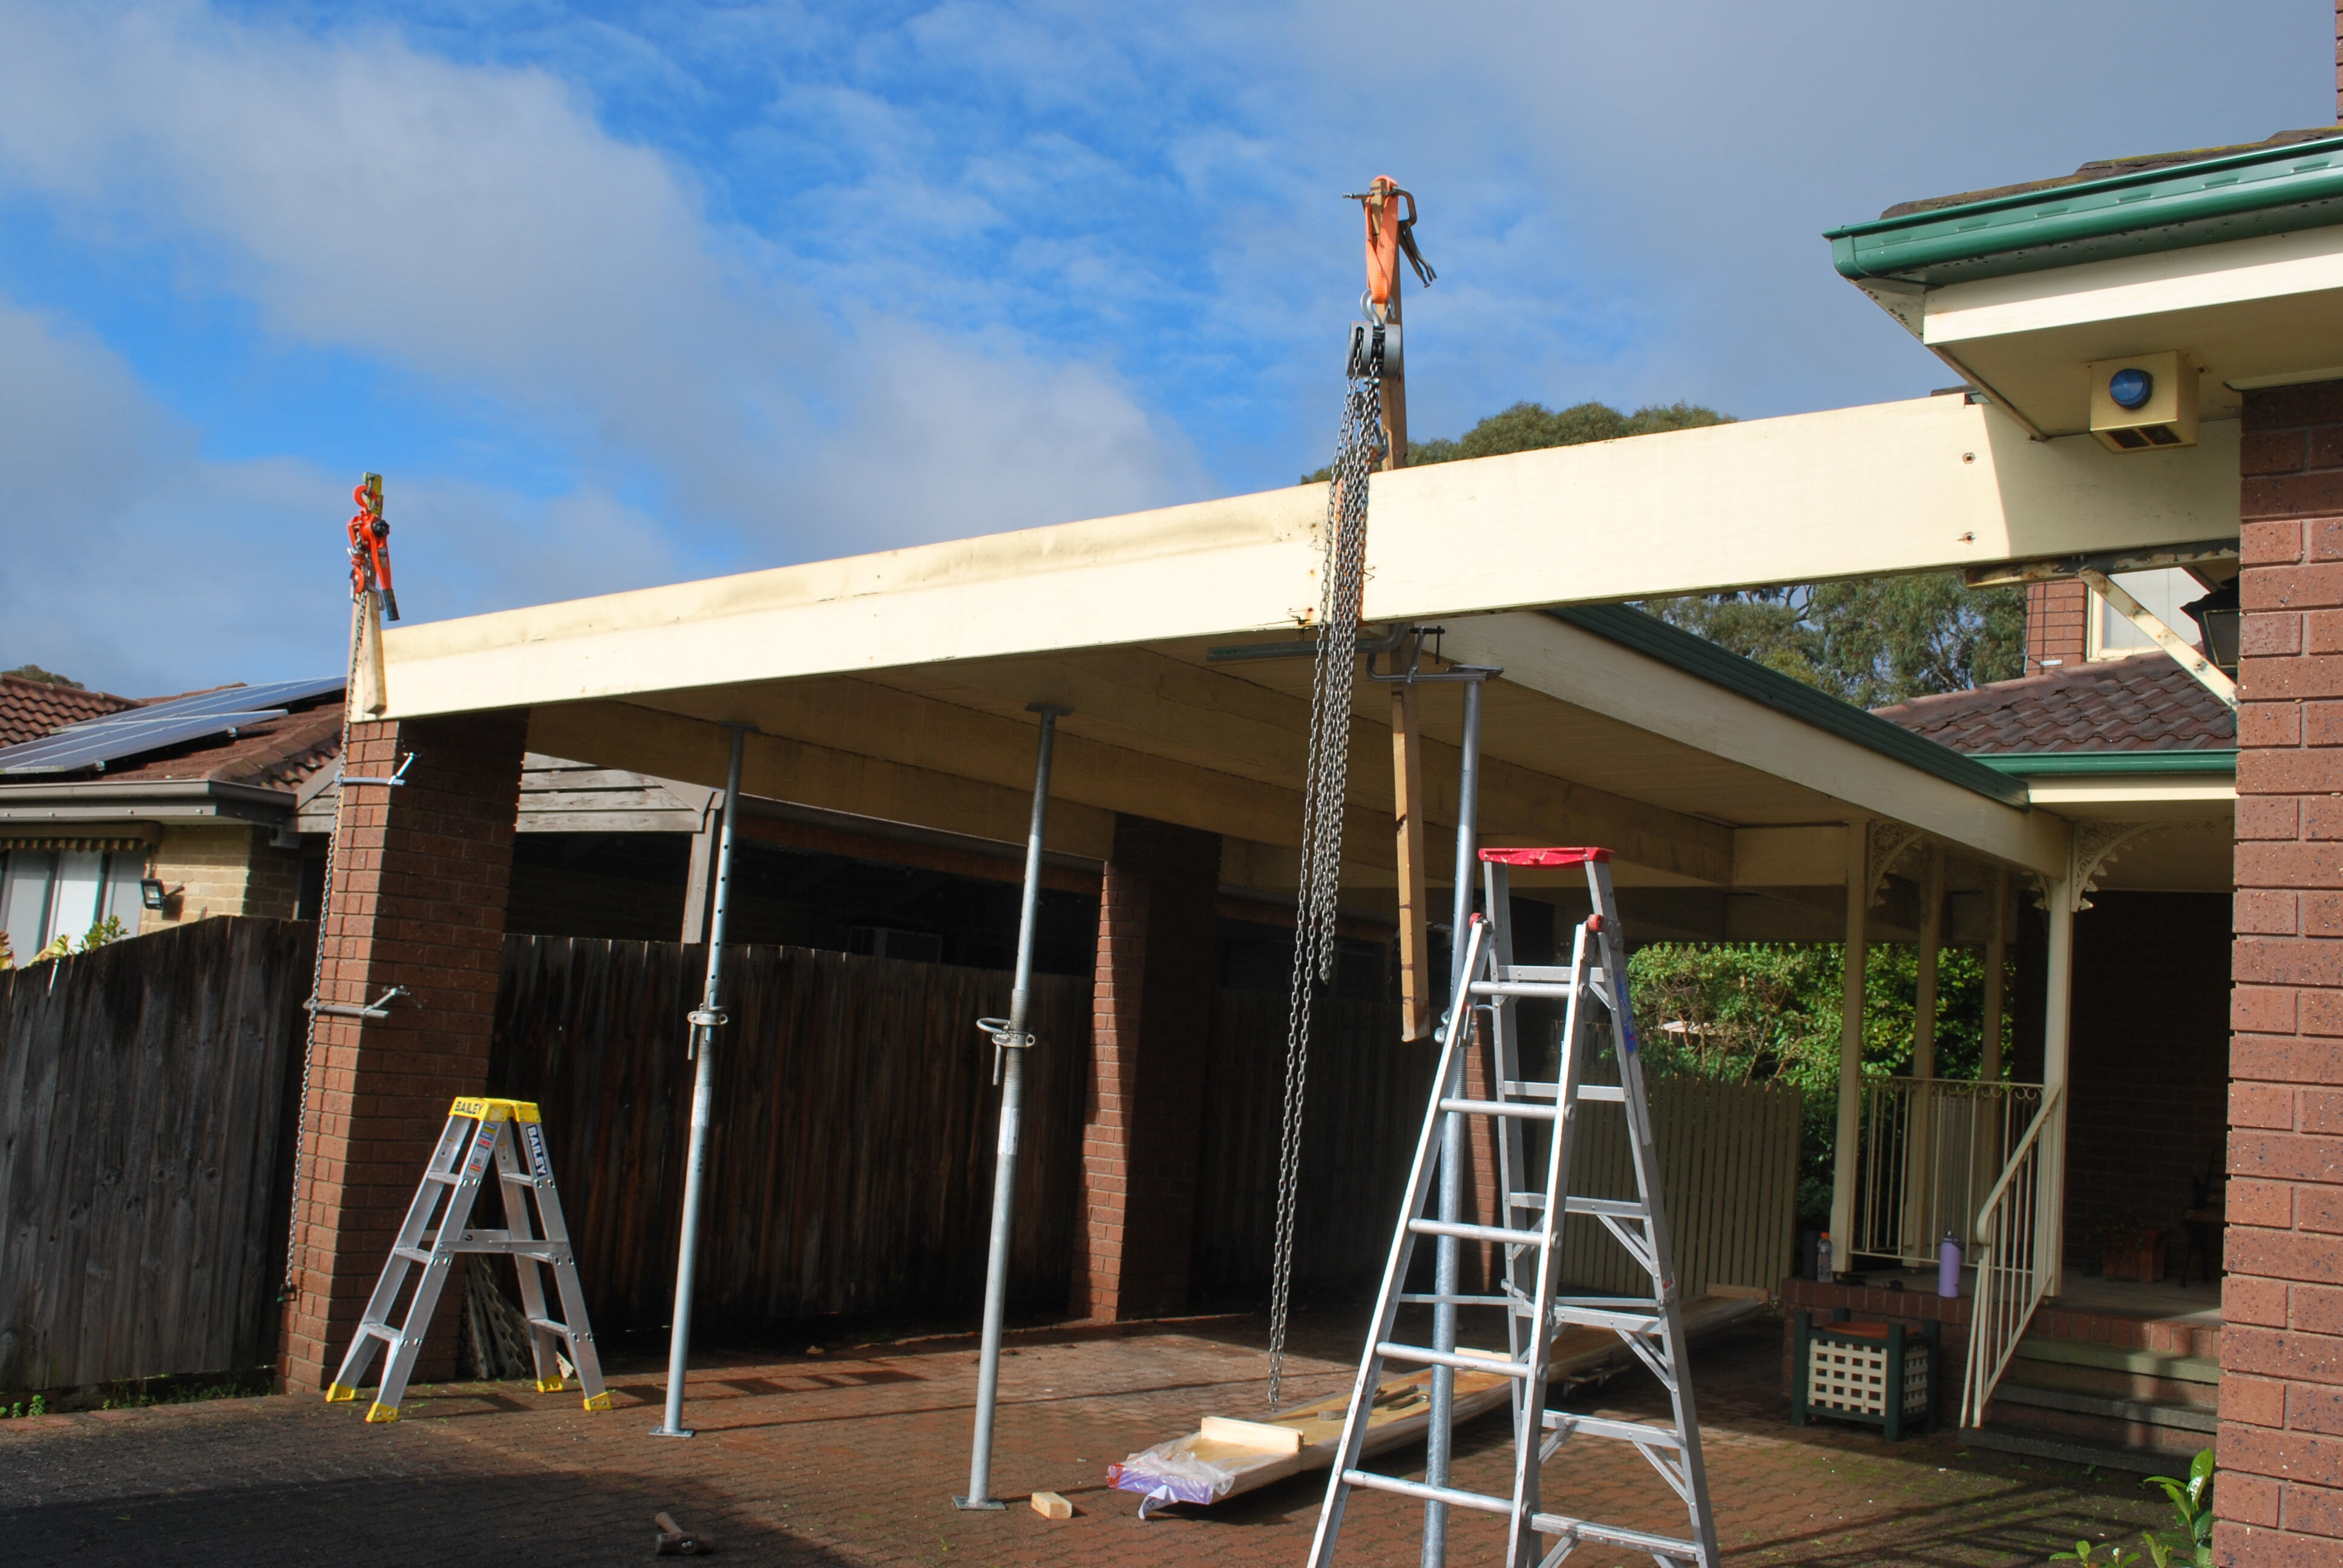
<svg viewBox="0 0 2343 1568">
<path fill-rule="evenodd" d="M 1687 1296 L 1713 1284 L 1774 1289 L 1797 1249 L 1797 1090 L 1706 1078 L 1649 1080 L 1652 1146 L 1675 1249 L 1675 1282 Z M 1626 1116 L 1584 1106 L 1570 1151 L 1570 1191 L 1633 1198 Z M 1556 1268 L 1591 1291 L 1647 1291 L 1649 1275 L 1628 1261 L 1603 1221 L 1563 1221 Z"/>
</svg>

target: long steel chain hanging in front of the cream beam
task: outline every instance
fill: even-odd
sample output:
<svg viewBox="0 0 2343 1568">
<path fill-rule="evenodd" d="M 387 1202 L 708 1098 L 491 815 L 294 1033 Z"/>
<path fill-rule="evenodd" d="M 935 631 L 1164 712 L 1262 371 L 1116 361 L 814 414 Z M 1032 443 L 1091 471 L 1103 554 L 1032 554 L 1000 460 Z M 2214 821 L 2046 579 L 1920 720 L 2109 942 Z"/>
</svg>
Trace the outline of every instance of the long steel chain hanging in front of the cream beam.
<svg viewBox="0 0 2343 1568">
<path fill-rule="evenodd" d="M 1270 1284 L 1270 1409 L 1286 1373 L 1293 1301 L 1293 1209 L 1303 1167 L 1303 1099 L 1310 1078 L 1310 1001 L 1333 984 L 1336 895 L 1343 891 L 1343 804 L 1350 792 L 1350 691 L 1366 591 L 1366 476 L 1382 462 L 1382 330 L 1354 328 L 1350 394 L 1326 488 L 1319 567 L 1319 640 L 1310 682 L 1310 762 L 1303 773 L 1303 877 L 1293 919 L 1293 991 L 1286 1008 L 1286 1118 L 1277 1144 L 1277 1256 Z"/>
</svg>

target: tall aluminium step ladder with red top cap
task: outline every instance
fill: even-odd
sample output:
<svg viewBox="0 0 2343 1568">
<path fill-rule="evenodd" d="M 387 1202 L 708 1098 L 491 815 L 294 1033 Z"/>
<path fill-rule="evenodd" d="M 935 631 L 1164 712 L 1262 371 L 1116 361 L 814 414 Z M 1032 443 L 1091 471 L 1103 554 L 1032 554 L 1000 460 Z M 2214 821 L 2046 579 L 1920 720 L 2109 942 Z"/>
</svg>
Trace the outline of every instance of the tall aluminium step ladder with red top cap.
<svg viewBox="0 0 2343 1568">
<path fill-rule="evenodd" d="M 1593 916 L 1577 926 L 1570 966 L 1549 968 L 1514 963 L 1514 940 L 1507 928 L 1507 867 L 1584 865 Z M 1607 848 L 1483 848 L 1481 874 L 1488 914 L 1471 919 L 1464 949 L 1464 991 L 1469 1005 L 1450 1008 L 1441 1043 L 1439 1073 L 1432 1080 L 1432 1104 L 1415 1144 L 1408 1172 L 1408 1195 L 1399 1230 L 1392 1235 L 1392 1259 L 1375 1298 L 1375 1322 L 1368 1331 L 1359 1378 L 1350 1392 L 1350 1416 L 1343 1444 L 1326 1481 L 1326 1507 L 1319 1512 L 1317 1538 L 1310 1542 L 1310 1568 L 1331 1568 L 1336 1538 L 1343 1530 L 1343 1505 L 1354 1488 L 1373 1488 L 1483 1509 L 1509 1519 L 1507 1568 L 1553 1568 L 1582 1542 L 1624 1547 L 1668 1563 L 1717 1566 L 1717 1530 L 1708 1507 L 1708 1472 L 1701 1465 L 1701 1427 L 1692 1411 L 1692 1383 L 1685 1376 L 1685 1322 L 1675 1296 L 1675 1273 L 1668 1254 L 1668 1228 L 1661 1214 L 1659 1165 L 1652 1155 L 1652 1116 L 1642 1090 L 1642 1062 L 1635 1055 L 1633 1008 L 1626 991 L 1626 947 L 1619 938 L 1619 905 L 1612 895 Z M 1565 1005 L 1560 1064 L 1556 1080 L 1521 1078 L 1521 1022 L 1516 1008 L 1530 998 L 1553 998 Z M 1490 1083 L 1495 1099 L 1464 1097 L 1464 1062 L 1474 1048 L 1474 1017 L 1488 1020 Z M 1610 1031 L 1617 1048 L 1619 1083 L 1586 1083 L 1586 1057 L 1598 1029 Z M 1635 1198 L 1577 1198 L 1567 1193 L 1570 1146 L 1584 1106 L 1619 1106 L 1628 1120 L 1628 1148 L 1635 1165 Z M 1446 1118 L 1460 1116 L 1495 1123 L 1497 1177 L 1502 1209 L 1495 1226 L 1441 1223 L 1425 1219 L 1425 1200 L 1434 1186 Z M 1542 1191 L 1523 1191 L 1530 1174 L 1523 1123 L 1546 1123 L 1553 1132 L 1544 1151 Z M 1560 1296 L 1556 1245 L 1560 1219 L 1584 1214 L 1635 1259 L 1652 1277 L 1649 1296 Z M 1434 1350 L 1394 1343 L 1401 1305 L 1439 1305 L 1436 1294 L 1403 1289 L 1418 1238 L 1457 1238 L 1495 1242 L 1504 1254 L 1502 1294 L 1450 1296 L 1460 1308 L 1502 1308 L 1507 1315 L 1509 1355 Z M 1652 1369 L 1668 1390 L 1673 1420 L 1668 1425 L 1572 1416 L 1546 1406 L 1546 1364 L 1556 1329 L 1582 1324 L 1612 1329 L 1628 1350 Z M 1368 1411 L 1382 1380 L 1385 1362 L 1453 1366 L 1457 1371 L 1502 1373 L 1514 1380 L 1514 1491 L 1485 1495 L 1455 1486 L 1429 1486 L 1403 1477 L 1359 1470 Z M 1652 1535 L 1593 1519 L 1551 1512 L 1539 1502 L 1539 1467 L 1570 1437 L 1596 1437 L 1631 1444 L 1685 1500 L 1692 1535 L 1685 1540 Z M 1539 1535 L 1556 1538 L 1539 1556 Z"/>
</svg>

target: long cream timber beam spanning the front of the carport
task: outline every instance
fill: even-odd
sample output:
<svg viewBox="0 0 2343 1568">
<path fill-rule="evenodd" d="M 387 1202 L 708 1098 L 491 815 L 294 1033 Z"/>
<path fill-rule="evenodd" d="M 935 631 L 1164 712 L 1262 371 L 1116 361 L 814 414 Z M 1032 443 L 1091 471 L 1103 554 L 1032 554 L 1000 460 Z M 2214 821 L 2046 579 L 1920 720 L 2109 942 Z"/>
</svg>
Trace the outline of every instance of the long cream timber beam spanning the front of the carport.
<svg viewBox="0 0 2343 1568">
<path fill-rule="evenodd" d="M 1324 485 L 401 626 L 387 717 L 1221 638 L 1314 616 Z M 1366 614 L 1432 619 L 2184 544 L 2238 431 L 2139 464 L 1917 398 L 1373 476 Z"/>
</svg>

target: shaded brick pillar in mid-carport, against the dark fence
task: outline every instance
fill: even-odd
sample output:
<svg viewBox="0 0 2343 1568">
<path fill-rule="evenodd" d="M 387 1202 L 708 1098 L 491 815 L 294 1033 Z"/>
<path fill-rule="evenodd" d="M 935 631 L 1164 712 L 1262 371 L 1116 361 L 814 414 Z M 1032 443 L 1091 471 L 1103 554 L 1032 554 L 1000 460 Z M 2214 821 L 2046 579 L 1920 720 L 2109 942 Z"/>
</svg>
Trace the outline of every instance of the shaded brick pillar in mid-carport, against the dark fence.
<svg viewBox="0 0 2343 1568">
<path fill-rule="evenodd" d="M 1127 1322 L 1188 1308 L 1221 837 L 1115 818 L 1099 884 L 1073 1301 Z"/>
</svg>

